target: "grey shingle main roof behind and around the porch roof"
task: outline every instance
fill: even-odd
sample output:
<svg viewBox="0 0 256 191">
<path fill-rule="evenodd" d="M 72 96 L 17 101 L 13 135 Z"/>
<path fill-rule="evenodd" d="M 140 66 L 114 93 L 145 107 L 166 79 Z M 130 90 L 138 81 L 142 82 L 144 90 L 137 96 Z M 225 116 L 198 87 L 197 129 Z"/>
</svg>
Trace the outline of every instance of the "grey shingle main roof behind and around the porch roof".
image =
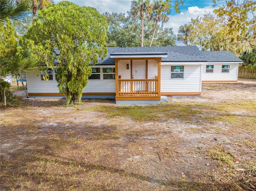
<svg viewBox="0 0 256 191">
<path fill-rule="evenodd" d="M 196 62 L 207 59 L 202 55 L 202 52 L 196 46 L 165 46 L 165 47 L 108 47 L 107 56 L 97 65 L 114 65 L 114 58 L 110 58 L 110 54 L 114 53 L 167 53 L 167 57 L 162 57 L 162 62 Z"/>
</svg>

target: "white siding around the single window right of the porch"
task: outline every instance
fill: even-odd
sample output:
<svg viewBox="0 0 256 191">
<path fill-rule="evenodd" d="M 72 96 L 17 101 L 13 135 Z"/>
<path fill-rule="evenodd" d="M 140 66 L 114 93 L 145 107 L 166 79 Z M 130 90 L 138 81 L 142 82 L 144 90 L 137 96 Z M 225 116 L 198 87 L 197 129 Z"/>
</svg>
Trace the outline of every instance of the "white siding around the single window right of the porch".
<svg viewBox="0 0 256 191">
<path fill-rule="evenodd" d="M 201 92 L 201 65 L 184 65 L 184 79 L 171 79 L 170 71 L 171 65 L 161 65 L 161 93 Z"/>
</svg>

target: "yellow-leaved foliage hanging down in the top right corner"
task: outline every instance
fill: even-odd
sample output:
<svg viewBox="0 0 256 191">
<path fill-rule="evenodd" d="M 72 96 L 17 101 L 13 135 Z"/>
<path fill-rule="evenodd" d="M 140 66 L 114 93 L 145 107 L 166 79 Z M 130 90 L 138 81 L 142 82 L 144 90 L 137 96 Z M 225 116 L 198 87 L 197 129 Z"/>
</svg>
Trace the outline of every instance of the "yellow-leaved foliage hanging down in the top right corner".
<svg viewBox="0 0 256 191">
<path fill-rule="evenodd" d="M 218 0 L 219 1 L 219 0 Z M 255 0 L 224 0 L 225 4 L 218 5 L 213 0 L 214 13 L 218 17 L 226 18 L 227 35 L 231 36 L 231 43 L 237 55 L 246 64 L 255 63 L 256 49 L 256 1 Z"/>
</svg>

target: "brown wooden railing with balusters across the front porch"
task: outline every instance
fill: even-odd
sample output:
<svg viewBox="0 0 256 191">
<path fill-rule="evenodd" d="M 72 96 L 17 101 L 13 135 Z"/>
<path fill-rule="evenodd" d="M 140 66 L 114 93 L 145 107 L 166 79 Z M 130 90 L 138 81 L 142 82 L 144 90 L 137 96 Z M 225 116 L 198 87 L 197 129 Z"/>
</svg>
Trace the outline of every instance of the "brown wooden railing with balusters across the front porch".
<svg viewBox="0 0 256 191">
<path fill-rule="evenodd" d="M 158 79 L 118 79 L 118 96 L 158 96 Z"/>
</svg>

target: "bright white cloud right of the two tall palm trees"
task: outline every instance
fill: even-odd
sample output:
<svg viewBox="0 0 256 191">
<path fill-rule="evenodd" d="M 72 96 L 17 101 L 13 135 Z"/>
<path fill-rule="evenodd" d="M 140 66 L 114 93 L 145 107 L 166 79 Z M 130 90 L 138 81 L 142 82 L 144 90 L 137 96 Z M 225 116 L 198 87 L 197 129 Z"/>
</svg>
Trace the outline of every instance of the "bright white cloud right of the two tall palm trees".
<svg viewBox="0 0 256 191">
<path fill-rule="evenodd" d="M 172 28 L 175 34 L 178 34 L 179 27 L 188 24 L 191 18 L 197 16 L 203 16 L 206 12 L 212 12 L 214 8 L 206 6 L 204 8 L 198 8 L 198 6 L 188 7 L 188 10 L 182 10 L 180 14 L 169 16 L 169 21 L 164 24 L 165 27 Z"/>
</svg>

